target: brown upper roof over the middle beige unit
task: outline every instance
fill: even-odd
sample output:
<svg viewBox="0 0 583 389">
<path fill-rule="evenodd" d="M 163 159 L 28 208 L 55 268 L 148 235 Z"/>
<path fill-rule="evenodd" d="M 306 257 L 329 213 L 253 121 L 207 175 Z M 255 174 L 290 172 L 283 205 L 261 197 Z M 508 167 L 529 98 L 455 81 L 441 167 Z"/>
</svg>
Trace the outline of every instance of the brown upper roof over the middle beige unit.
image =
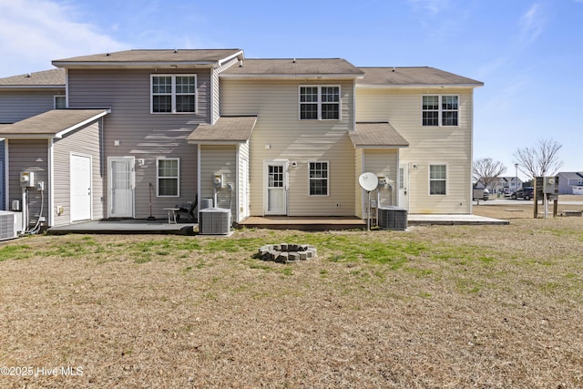
<svg viewBox="0 0 583 389">
<path fill-rule="evenodd" d="M 343 58 L 245 59 L 220 77 L 363 77 L 363 71 Z"/>
</svg>

